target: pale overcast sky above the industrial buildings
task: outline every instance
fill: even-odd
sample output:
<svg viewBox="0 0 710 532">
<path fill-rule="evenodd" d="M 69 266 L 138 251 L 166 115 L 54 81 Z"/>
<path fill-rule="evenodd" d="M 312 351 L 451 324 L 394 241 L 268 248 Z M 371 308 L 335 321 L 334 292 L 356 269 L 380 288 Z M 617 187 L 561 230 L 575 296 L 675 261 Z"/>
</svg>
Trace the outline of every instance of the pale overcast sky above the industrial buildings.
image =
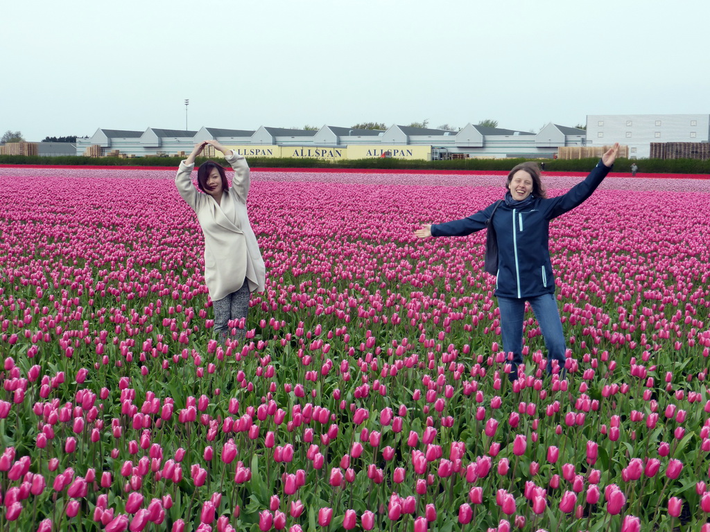
<svg viewBox="0 0 710 532">
<path fill-rule="evenodd" d="M 5 2 L 0 134 L 710 113 L 710 1 Z"/>
</svg>

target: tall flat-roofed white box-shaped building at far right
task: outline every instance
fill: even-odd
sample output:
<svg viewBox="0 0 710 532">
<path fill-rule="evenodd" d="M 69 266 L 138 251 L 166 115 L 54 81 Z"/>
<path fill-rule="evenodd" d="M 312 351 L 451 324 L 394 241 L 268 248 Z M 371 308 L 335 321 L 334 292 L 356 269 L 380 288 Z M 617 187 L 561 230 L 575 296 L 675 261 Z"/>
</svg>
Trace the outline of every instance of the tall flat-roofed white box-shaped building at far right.
<svg viewBox="0 0 710 532">
<path fill-rule="evenodd" d="M 586 145 L 628 145 L 630 159 L 650 157 L 651 143 L 707 143 L 710 114 L 593 114 Z"/>
</svg>

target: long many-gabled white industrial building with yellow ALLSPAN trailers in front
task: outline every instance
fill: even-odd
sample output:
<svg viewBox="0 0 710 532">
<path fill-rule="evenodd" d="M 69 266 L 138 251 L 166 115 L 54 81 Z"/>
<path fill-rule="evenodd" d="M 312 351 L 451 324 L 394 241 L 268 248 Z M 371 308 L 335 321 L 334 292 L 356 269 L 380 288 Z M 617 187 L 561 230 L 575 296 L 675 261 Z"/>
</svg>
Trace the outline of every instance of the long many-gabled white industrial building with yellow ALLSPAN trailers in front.
<svg viewBox="0 0 710 532">
<path fill-rule="evenodd" d="M 256 131 L 207 127 L 201 128 L 200 131 L 159 128 L 124 131 L 99 128 L 90 138 L 77 139 L 77 155 L 176 155 L 190 153 L 195 143 L 213 139 L 226 146 L 239 146 L 244 149 L 245 154 L 273 157 L 360 158 L 377 157 L 386 153 L 394 154 L 393 157 L 417 159 L 549 158 L 553 157 L 560 147 L 584 145 L 585 134 L 584 130 L 552 123 L 537 134 L 474 126 L 471 123 L 461 131 L 399 125 L 391 126 L 386 131 L 337 126 L 323 126 L 318 131 L 266 126 L 261 126 Z M 275 146 L 283 149 L 267 148 Z M 371 149 L 354 149 L 348 152 L 349 146 L 369 146 Z"/>
</svg>

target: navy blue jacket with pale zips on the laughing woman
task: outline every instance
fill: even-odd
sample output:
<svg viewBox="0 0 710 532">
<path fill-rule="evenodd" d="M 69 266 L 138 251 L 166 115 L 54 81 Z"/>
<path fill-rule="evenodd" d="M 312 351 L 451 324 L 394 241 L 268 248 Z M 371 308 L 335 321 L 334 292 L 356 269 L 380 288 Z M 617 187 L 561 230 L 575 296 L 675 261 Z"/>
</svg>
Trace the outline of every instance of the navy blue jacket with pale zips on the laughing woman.
<svg viewBox="0 0 710 532">
<path fill-rule="evenodd" d="M 535 198 L 523 209 L 503 201 L 493 215 L 498 240 L 496 295 L 528 299 L 555 292 L 550 261 L 550 220 L 571 211 L 589 198 L 611 168 L 601 160 L 594 170 L 567 194 L 555 198 Z M 496 204 L 491 204 L 461 220 L 432 224 L 432 236 L 464 236 L 486 228 L 486 220 Z"/>
</svg>

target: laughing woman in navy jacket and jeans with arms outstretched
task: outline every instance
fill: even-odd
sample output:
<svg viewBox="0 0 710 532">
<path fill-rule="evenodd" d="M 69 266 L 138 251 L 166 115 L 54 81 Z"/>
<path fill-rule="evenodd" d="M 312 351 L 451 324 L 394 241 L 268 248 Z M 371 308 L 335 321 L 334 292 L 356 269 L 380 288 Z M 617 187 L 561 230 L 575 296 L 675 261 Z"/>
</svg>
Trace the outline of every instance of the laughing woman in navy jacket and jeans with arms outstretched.
<svg viewBox="0 0 710 532">
<path fill-rule="evenodd" d="M 496 297 L 501 312 L 503 350 L 513 353 L 510 380 L 518 377 L 523 363 L 523 314 L 525 301 L 530 302 L 547 348 L 547 372 L 552 373 L 557 360 L 564 367 L 562 322 L 555 300 L 555 277 L 550 261 L 550 220 L 571 211 L 591 196 L 611 170 L 619 145 L 616 143 L 583 182 L 555 198 L 547 198 L 540 182 L 540 169 L 535 162 L 523 162 L 510 170 L 506 197 L 461 220 L 422 226 L 415 231 L 419 238 L 429 236 L 463 236 L 486 228 L 493 209 L 493 228 L 498 242 L 498 275 Z"/>
</svg>

